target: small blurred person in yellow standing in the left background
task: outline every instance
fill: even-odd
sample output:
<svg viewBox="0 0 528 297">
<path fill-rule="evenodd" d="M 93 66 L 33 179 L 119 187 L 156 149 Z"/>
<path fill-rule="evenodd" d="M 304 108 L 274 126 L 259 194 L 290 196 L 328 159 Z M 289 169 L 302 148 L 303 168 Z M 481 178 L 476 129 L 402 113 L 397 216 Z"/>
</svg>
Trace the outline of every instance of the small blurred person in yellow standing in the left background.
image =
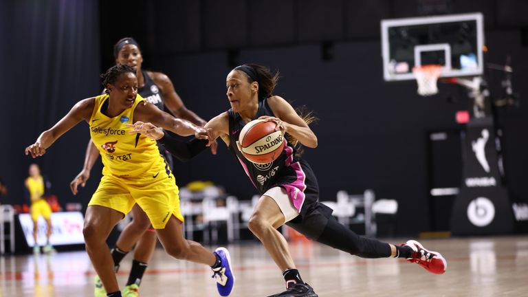
<svg viewBox="0 0 528 297">
<path fill-rule="evenodd" d="M 33 238 L 35 245 L 33 247 L 34 253 L 40 252 L 39 244 L 36 241 L 37 232 L 39 232 L 39 217 L 42 216 L 46 221 L 46 245 L 43 247 L 43 252 L 53 252 L 54 249 L 50 244 L 50 236 L 52 235 L 52 209 L 50 204 L 44 199 L 45 180 L 41 175 L 39 165 L 30 165 L 30 176 L 25 179 L 25 189 L 27 196 L 31 202 L 31 219 L 33 220 Z"/>
</svg>

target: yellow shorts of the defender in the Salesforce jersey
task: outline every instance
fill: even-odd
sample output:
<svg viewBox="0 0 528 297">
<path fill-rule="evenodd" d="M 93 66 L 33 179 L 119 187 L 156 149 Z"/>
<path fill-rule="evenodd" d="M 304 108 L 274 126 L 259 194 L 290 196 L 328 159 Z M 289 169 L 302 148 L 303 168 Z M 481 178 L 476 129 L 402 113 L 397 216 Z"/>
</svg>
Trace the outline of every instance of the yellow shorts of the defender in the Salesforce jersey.
<svg viewBox="0 0 528 297">
<path fill-rule="evenodd" d="M 138 177 L 103 175 L 88 206 L 104 206 L 127 214 L 137 203 L 153 228 L 163 229 L 170 214 L 184 221 L 178 192 L 174 175 L 165 168 L 152 168 Z"/>
</svg>

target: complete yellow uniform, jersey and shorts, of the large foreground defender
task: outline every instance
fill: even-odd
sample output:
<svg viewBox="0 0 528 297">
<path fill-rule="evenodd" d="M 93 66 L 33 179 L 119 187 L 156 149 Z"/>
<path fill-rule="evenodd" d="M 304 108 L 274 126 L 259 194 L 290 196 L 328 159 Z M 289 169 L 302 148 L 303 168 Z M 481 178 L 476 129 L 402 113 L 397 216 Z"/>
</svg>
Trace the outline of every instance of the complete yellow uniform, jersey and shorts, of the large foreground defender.
<svg viewBox="0 0 528 297">
<path fill-rule="evenodd" d="M 89 206 L 98 205 L 127 214 L 137 203 L 151 220 L 153 228 L 163 229 L 168 214 L 180 221 L 178 188 L 166 162 L 159 155 L 155 140 L 140 134 L 126 133 L 137 104 L 144 99 L 137 96 L 130 109 L 110 118 L 101 112 L 109 95 L 94 99 L 90 136 L 102 158 L 102 179 Z M 116 199 L 120 197 L 120 199 Z"/>
</svg>

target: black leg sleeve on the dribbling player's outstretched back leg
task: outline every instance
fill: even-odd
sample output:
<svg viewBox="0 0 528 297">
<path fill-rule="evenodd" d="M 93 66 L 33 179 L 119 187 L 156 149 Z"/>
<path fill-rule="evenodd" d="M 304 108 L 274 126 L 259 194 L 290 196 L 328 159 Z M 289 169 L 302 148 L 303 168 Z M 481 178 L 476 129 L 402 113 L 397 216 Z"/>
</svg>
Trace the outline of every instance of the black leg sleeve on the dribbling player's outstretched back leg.
<svg viewBox="0 0 528 297">
<path fill-rule="evenodd" d="M 329 217 L 325 230 L 322 231 L 316 241 L 362 258 L 388 258 L 391 256 L 391 246 L 388 243 L 359 236 L 336 221 L 334 217 Z"/>
</svg>

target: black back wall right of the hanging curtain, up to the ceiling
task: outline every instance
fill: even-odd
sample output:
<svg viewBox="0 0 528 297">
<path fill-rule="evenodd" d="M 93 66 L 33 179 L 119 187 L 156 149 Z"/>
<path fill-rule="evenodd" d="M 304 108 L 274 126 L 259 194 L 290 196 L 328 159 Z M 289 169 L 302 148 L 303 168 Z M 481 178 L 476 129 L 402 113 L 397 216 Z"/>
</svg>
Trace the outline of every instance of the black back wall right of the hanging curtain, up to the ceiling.
<svg viewBox="0 0 528 297">
<path fill-rule="evenodd" d="M 102 61 L 113 61 L 115 41 L 135 37 L 142 45 L 144 68 L 168 74 L 186 106 L 207 119 L 229 107 L 225 76 L 232 67 L 255 62 L 280 69 L 283 77 L 276 94 L 294 106 L 307 105 L 320 118 L 313 126 L 319 146 L 307 149 L 305 157 L 318 177 L 321 199 L 336 199 L 338 190 L 360 193 L 365 188 L 373 188 L 378 198 L 397 199 L 397 234 L 431 230 L 428 133 L 464 129 L 454 115 L 469 104 L 465 91 L 452 85 L 439 84 L 440 94 L 423 98 L 416 94 L 415 81 L 384 82 L 380 20 L 482 12 L 489 47 L 486 61 L 503 63 L 511 55 L 514 87 L 528 94 L 528 85 L 522 83 L 528 65 L 528 38 L 522 33 L 525 1 L 457 0 L 449 1 L 449 7 L 435 5 L 437 1 L 402 0 L 123 3 L 100 4 L 101 28 L 107 28 L 101 36 Z M 137 23 L 126 22 L 133 16 Z M 499 111 L 508 188 L 516 199 L 528 197 L 528 162 L 522 153 L 528 144 L 527 114 L 524 103 L 519 109 Z M 459 166 L 460 159 L 442 155 L 450 166 Z M 175 175 L 180 185 L 212 180 L 241 199 L 255 193 L 225 147 L 218 156 L 203 153 L 177 164 Z M 439 199 L 444 198 L 452 197 Z M 445 209 L 438 217 L 449 221 L 449 206 Z"/>
</svg>

